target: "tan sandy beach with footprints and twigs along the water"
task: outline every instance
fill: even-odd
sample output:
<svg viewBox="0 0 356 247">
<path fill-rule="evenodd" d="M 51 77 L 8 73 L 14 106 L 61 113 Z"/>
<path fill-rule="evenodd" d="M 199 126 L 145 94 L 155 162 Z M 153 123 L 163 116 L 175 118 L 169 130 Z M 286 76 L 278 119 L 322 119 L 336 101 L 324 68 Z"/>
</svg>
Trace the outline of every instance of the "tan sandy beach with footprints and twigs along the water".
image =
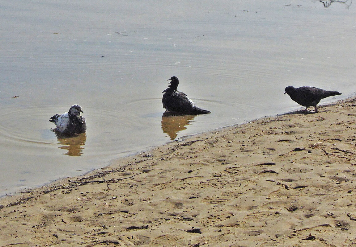
<svg viewBox="0 0 356 247">
<path fill-rule="evenodd" d="M 1 198 L 0 246 L 356 246 L 355 107 L 209 131 Z"/>
</svg>

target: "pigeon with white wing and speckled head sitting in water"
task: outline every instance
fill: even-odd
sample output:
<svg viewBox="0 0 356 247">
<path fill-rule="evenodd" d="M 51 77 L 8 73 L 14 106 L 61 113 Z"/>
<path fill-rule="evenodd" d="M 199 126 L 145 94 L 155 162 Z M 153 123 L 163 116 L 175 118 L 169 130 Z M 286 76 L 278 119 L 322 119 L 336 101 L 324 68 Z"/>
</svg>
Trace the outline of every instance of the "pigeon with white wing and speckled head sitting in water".
<svg viewBox="0 0 356 247">
<path fill-rule="evenodd" d="M 64 135 L 84 133 L 87 130 L 87 124 L 85 119 L 80 116 L 81 112 L 83 113 L 82 107 L 79 104 L 74 104 L 68 112 L 54 115 L 49 122 L 56 124 L 57 127 L 54 131 Z"/>
</svg>

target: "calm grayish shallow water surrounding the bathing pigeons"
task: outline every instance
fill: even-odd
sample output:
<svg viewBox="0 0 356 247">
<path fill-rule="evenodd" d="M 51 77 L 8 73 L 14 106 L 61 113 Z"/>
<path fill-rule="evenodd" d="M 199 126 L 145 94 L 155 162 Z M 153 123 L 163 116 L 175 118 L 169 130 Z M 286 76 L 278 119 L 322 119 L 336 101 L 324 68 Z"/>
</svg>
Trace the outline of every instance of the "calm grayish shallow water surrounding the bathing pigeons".
<svg viewBox="0 0 356 247">
<path fill-rule="evenodd" d="M 289 85 L 342 92 L 321 103 L 352 95 L 355 5 L 326 6 L 2 0 L 0 195 L 184 135 L 302 109 L 283 95 Z M 162 116 L 173 75 L 212 113 Z M 58 139 L 49 117 L 72 104 L 83 107 L 87 133 Z"/>
</svg>

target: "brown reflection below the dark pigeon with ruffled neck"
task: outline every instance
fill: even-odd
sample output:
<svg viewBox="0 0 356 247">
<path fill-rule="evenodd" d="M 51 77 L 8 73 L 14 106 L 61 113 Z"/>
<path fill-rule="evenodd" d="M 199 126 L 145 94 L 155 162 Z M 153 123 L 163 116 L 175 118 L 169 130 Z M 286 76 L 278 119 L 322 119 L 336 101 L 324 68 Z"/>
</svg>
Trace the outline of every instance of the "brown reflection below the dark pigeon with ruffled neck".
<svg viewBox="0 0 356 247">
<path fill-rule="evenodd" d="M 162 115 L 162 130 L 163 133 L 169 135 L 171 140 L 174 140 L 179 131 L 187 129 L 187 125 L 193 122 L 197 115 L 179 115 L 170 112 L 164 112 Z"/>
</svg>

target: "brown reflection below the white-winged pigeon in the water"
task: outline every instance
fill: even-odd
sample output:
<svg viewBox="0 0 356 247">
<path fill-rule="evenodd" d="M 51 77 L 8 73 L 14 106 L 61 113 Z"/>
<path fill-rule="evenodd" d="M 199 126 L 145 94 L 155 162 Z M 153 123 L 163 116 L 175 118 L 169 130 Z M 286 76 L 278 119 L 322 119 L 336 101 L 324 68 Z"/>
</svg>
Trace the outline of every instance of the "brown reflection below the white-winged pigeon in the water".
<svg viewBox="0 0 356 247">
<path fill-rule="evenodd" d="M 66 149 L 68 152 L 64 153 L 69 156 L 81 156 L 83 155 L 83 149 L 85 141 L 87 140 L 87 134 L 77 134 L 75 136 L 64 136 L 60 133 L 56 133 L 58 144 L 60 149 Z"/>
</svg>

